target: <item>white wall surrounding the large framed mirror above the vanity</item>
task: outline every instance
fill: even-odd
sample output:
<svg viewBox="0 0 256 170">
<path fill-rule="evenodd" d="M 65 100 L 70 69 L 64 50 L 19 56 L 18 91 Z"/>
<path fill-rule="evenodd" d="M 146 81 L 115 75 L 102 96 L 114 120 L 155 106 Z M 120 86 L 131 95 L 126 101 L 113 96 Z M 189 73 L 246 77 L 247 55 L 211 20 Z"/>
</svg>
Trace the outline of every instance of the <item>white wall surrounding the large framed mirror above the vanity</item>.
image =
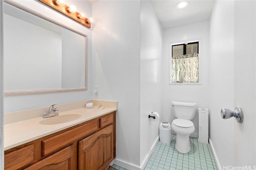
<svg viewBox="0 0 256 170">
<path fill-rule="evenodd" d="M 59 21 L 68 27 L 76 29 L 88 35 L 88 90 L 79 92 L 66 92 L 66 93 L 52 93 L 52 94 L 37 94 L 37 95 L 24 95 L 24 96 L 9 96 L 4 98 L 4 113 L 12 111 L 20 111 L 25 109 L 32 109 L 38 107 L 47 107 L 52 104 L 64 104 L 69 102 L 76 102 L 81 100 L 92 99 L 92 31 L 87 27 L 71 20 L 70 18 L 59 14 L 55 10 L 46 8 L 39 1 L 16 0 L 18 4 L 35 10 L 40 14 L 48 16 L 53 20 Z M 66 2 L 70 3 L 69 1 Z M 87 16 L 92 16 L 92 4 L 88 1 L 72 1 L 76 5 L 78 12 L 84 11 Z M 54 75 L 53 75 L 54 76 Z"/>
</svg>

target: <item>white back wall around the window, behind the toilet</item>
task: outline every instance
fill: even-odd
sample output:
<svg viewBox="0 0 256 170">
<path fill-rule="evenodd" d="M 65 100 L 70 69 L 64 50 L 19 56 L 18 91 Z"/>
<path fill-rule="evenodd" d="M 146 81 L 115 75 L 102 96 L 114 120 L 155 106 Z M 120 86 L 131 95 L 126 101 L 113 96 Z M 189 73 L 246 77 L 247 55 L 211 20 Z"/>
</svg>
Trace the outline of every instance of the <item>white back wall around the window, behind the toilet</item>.
<svg viewBox="0 0 256 170">
<path fill-rule="evenodd" d="M 174 115 L 172 114 L 171 102 L 196 102 L 197 107 L 208 108 L 209 95 L 209 22 L 194 23 L 181 27 L 174 27 L 164 30 L 163 43 L 163 121 L 168 117 L 168 122 L 172 123 Z M 192 39 L 201 39 L 199 42 L 202 46 L 201 57 L 202 66 L 202 85 L 169 85 L 170 72 L 170 45 L 172 43 L 179 43 L 189 41 Z M 200 45 L 199 44 L 199 45 Z M 198 111 L 192 120 L 195 125 L 193 137 L 198 137 Z M 175 133 L 172 131 L 172 133 Z"/>
</svg>

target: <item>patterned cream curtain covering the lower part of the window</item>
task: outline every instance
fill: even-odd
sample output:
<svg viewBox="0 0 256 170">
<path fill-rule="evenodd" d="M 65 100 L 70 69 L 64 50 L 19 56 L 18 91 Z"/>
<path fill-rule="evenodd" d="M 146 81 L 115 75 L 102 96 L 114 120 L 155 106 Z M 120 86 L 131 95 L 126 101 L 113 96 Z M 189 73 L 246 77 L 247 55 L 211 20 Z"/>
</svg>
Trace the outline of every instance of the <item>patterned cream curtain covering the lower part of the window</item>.
<svg viewBox="0 0 256 170">
<path fill-rule="evenodd" d="M 198 82 L 198 54 L 172 57 L 172 82 Z"/>
</svg>

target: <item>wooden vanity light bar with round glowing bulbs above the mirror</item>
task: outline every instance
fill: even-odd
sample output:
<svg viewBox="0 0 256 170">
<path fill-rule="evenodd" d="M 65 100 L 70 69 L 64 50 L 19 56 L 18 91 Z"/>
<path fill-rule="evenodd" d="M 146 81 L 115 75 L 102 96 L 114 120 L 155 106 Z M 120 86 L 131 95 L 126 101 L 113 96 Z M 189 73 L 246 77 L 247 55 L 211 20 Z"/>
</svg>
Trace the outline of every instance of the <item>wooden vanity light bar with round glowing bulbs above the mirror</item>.
<svg viewBox="0 0 256 170">
<path fill-rule="evenodd" d="M 50 6 L 54 10 L 68 16 L 69 18 L 81 23 L 82 25 L 90 28 L 92 19 L 86 18 L 86 14 L 84 12 L 76 12 L 76 6 L 70 5 L 67 6 L 64 3 L 64 0 L 39 0 L 40 2 Z"/>
</svg>

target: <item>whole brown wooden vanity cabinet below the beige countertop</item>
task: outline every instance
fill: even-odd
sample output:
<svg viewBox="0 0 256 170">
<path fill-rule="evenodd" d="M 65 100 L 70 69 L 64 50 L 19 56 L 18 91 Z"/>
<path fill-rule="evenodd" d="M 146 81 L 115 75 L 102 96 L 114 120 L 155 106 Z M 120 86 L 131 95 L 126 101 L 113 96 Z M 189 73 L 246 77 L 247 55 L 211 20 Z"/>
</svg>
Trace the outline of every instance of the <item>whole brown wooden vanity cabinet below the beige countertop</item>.
<svg viewBox="0 0 256 170">
<path fill-rule="evenodd" d="M 116 112 L 5 150 L 5 170 L 103 170 L 116 156 Z"/>
</svg>

